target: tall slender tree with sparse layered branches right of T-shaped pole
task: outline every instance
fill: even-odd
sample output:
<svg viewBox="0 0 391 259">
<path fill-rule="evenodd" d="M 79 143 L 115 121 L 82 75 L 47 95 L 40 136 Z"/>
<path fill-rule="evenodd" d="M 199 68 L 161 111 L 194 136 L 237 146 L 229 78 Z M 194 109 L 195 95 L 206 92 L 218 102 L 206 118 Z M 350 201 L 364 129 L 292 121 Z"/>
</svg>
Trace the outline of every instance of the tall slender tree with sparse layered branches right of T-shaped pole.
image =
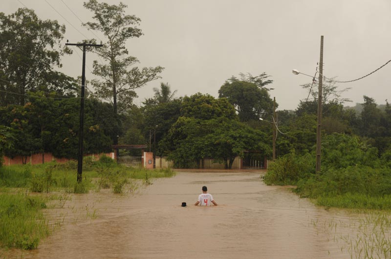
<svg viewBox="0 0 391 259">
<path fill-rule="evenodd" d="M 84 2 L 84 7 L 94 13 L 92 18 L 95 21 L 83 25 L 103 33 L 107 38 L 103 47 L 90 50 L 106 61 L 106 63 L 94 61 L 93 73 L 102 80 L 91 80 L 91 84 L 96 91 L 96 96 L 111 102 L 114 113 L 118 114 L 131 107 L 133 98 L 137 96 L 134 89 L 160 78 L 159 74 L 163 71 L 163 67 L 139 69 L 133 66 L 138 60 L 129 56 L 125 43 L 131 38 L 139 38 L 142 35 L 141 29 L 136 27 L 141 20 L 125 13 L 127 5 L 122 2 L 118 5 L 109 5 L 98 3 L 97 0 L 89 0 Z"/>
</svg>

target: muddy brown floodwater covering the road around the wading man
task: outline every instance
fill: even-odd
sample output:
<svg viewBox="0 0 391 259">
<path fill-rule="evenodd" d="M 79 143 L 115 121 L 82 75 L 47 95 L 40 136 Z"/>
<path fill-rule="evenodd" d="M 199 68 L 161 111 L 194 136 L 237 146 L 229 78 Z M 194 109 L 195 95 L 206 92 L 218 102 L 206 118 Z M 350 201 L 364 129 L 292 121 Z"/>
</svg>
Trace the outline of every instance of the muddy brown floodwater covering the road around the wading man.
<svg viewBox="0 0 391 259">
<path fill-rule="evenodd" d="M 124 195 L 69 195 L 47 210 L 60 224 L 54 233 L 9 258 L 360 258 L 344 240 L 357 228 L 351 215 L 267 186 L 260 174 L 186 171 Z M 194 206 L 203 185 L 218 206 Z"/>
</svg>

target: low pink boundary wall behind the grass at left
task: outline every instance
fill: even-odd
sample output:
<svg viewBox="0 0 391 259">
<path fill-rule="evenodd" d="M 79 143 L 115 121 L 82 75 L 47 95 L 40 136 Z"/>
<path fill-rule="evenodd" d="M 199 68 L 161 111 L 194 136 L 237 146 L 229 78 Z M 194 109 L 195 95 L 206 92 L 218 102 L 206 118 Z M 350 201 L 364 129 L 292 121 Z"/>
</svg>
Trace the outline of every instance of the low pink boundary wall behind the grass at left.
<svg viewBox="0 0 391 259">
<path fill-rule="evenodd" d="M 102 153 L 102 154 L 92 154 L 92 155 L 84 155 L 85 157 L 90 157 L 92 156 L 94 159 L 99 159 L 100 156 L 106 155 L 109 158 L 115 159 L 114 156 L 115 152 L 111 153 Z M 3 165 L 13 165 L 13 164 L 23 164 L 24 158 L 18 156 L 15 158 L 8 158 L 8 157 L 3 157 L 4 163 Z M 26 159 L 26 163 L 31 163 L 31 164 L 42 164 L 42 163 L 47 163 L 51 161 L 56 161 L 58 163 L 65 163 L 66 161 L 69 161 L 72 159 L 66 159 L 66 158 L 55 158 L 51 153 L 44 153 L 44 154 L 33 154 L 32 156 L 28 156 Z"/>
</svg>

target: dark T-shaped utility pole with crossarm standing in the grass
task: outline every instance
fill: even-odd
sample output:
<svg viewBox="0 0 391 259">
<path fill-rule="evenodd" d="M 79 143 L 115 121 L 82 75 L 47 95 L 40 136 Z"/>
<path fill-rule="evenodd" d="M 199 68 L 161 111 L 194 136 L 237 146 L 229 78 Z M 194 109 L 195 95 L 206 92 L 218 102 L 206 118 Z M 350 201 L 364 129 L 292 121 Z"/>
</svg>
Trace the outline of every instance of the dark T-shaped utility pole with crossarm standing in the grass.
<svg viewBox="0 0 391 259">
<path fill-rule="evenodd" d="M 65 45 L 69 46 L 83 46 L 83 68 L 82 68 L 82 93 L 80 95 L 80 123 L 79 123 L 79 153 L 77 156 L 77 182 L 82 181 L 83 174 L 83 128 L 84 128 L 84 89 L 86 84 L 86 47 L 102 47 L 102 44 L 90 44 L 90 43 L 68 43 L 66 40 Z"/>
</svg>

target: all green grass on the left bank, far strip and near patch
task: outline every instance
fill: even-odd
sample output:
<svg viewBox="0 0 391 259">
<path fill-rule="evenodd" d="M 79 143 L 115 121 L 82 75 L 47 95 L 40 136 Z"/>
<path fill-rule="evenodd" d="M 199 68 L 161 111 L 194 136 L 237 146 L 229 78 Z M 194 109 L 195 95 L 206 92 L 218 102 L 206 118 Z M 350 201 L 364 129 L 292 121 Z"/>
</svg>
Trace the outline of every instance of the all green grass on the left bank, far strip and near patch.
<svg viewBox="0 0 391 259">
<path fill-rule="evenodd" d="M 150 184 L 150 179 L 174 175 L 171 169 L 129 168 L 105 158 L 97 162 L 86 159 L 81 183 L 77 183 L 77 163 L 74 161 L 0 166 L 0 247 L 35 249 L 40 240 L 50 234 L 42 214 L 45 199 L 41 195 L 26 195 L 28 191 L 63 191 L 66 194 L 111 188 L 113 193 L 122 193 L 127 187 L 132 192 L 137 186 L 131 179 L 142 179 Z M 15 194 L 15 189 L 20 193 Z"/>
</svg>

